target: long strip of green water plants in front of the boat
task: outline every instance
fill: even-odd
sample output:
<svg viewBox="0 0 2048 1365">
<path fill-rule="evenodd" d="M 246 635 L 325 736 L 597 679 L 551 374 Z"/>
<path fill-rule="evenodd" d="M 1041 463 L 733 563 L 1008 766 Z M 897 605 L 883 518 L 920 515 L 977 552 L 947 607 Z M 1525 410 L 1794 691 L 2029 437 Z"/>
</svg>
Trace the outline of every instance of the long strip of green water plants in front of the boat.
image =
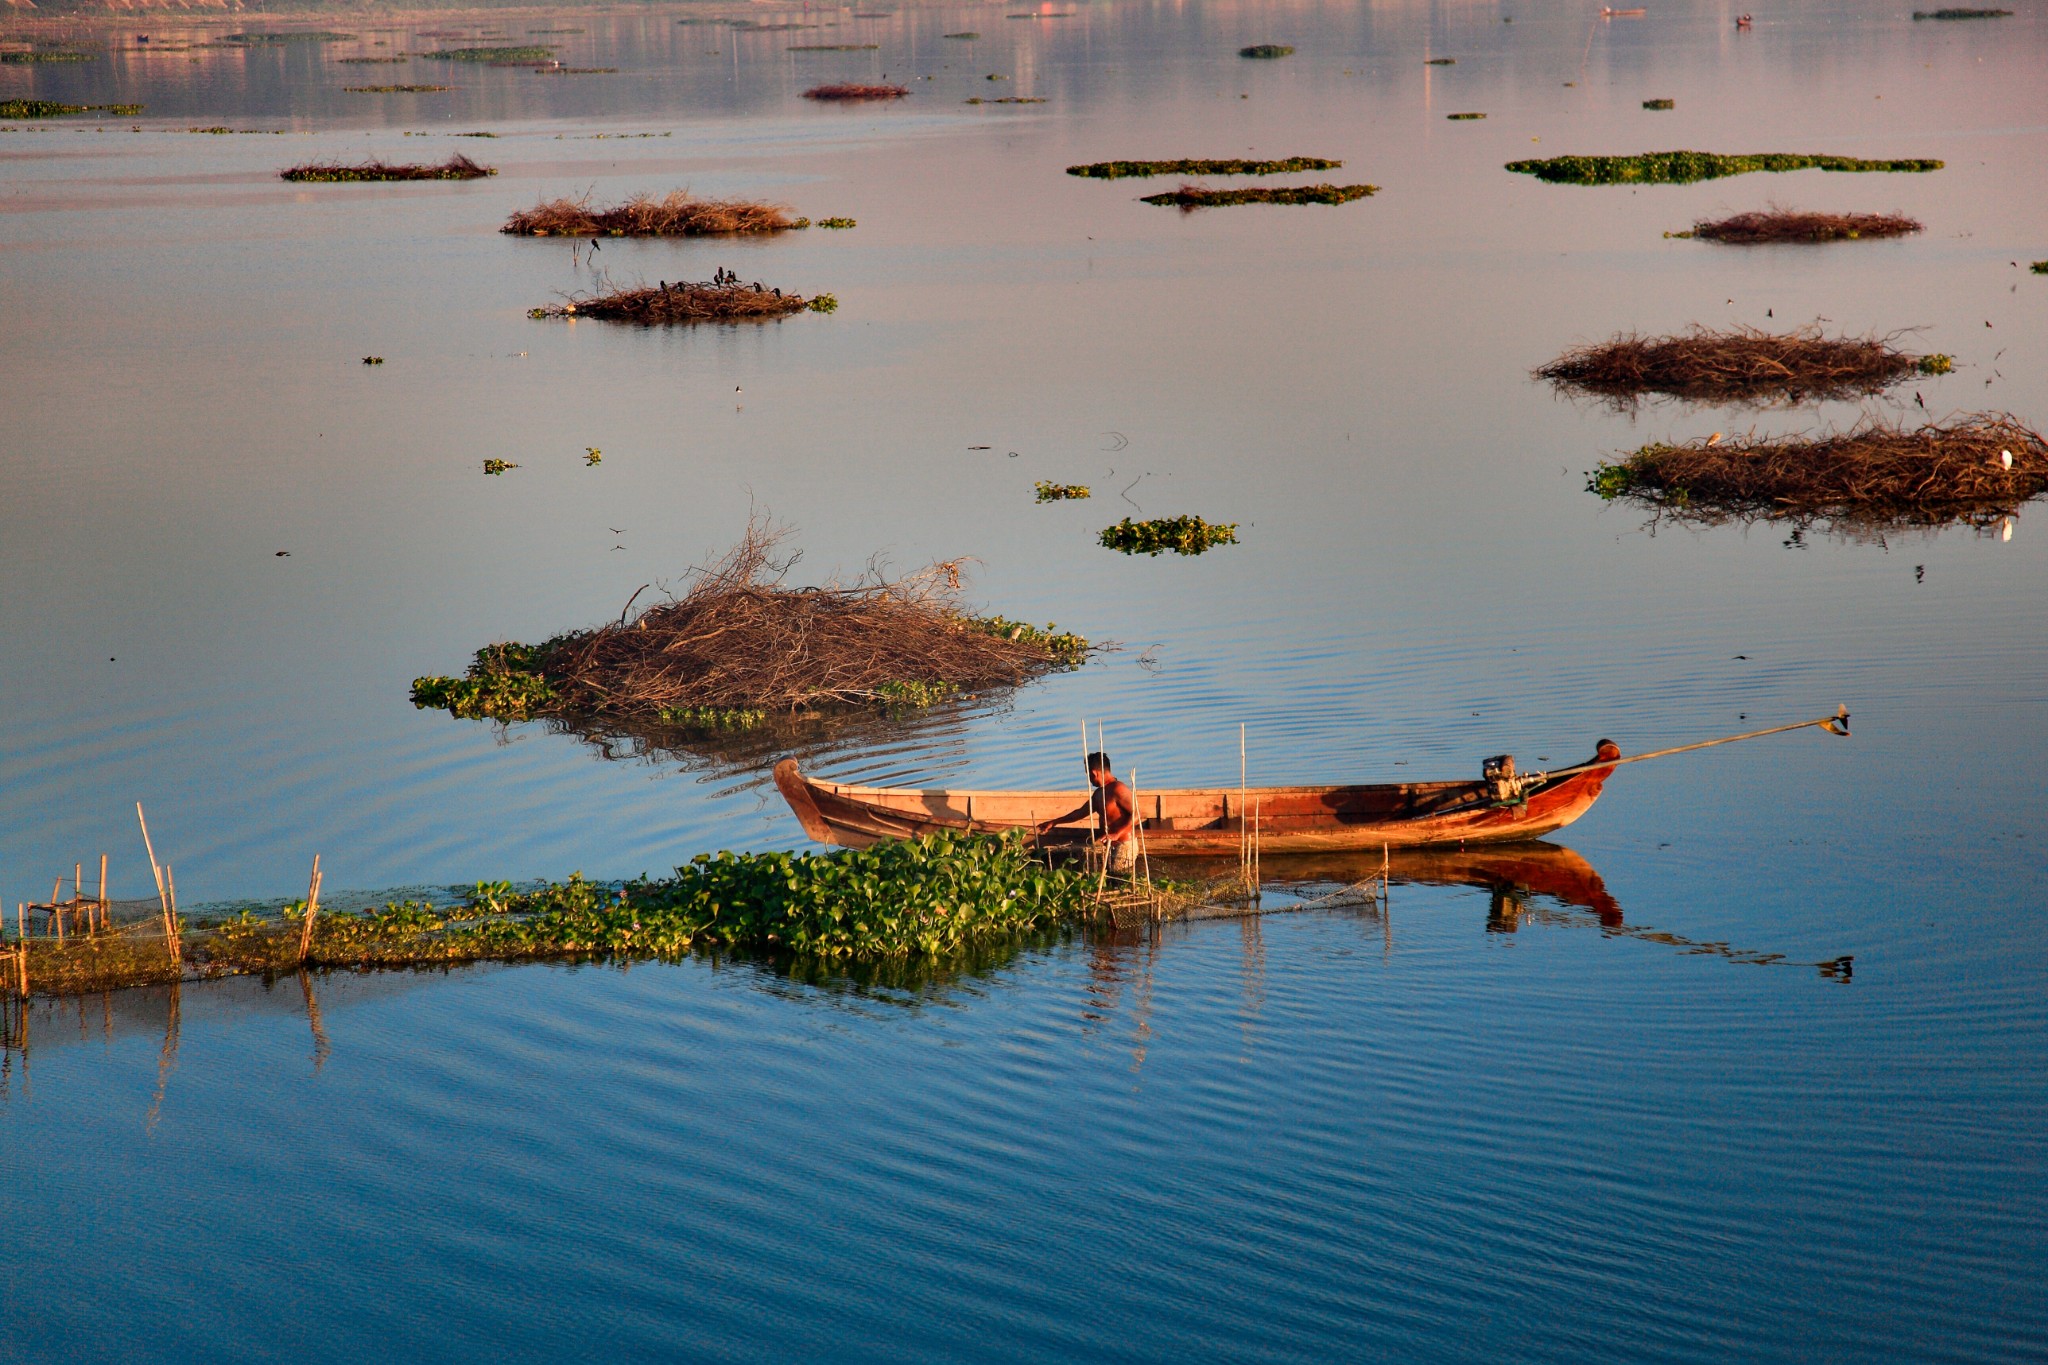
<svg viewBox="0 0 2048 1365">
<path fill-rule="evenodd" d="M 213 976 L 446 968 L 471 962 L 676 960 L 725 950 L 825 962 L 944 962 L 1094 919 L 1098 878 L 1020 833 L 936 833 L 829 853 L 702 853 L 668 878 L 516 886 L 453 896 L 221 907 L 178 925 L 27 939 L 31 995 Z M 338 898 L 340 900 L 340 898 Z M 154 911 L 156 902 L 147 902 Z M 0 956 L 18 990 L 12 943 Z"/>
</svg>

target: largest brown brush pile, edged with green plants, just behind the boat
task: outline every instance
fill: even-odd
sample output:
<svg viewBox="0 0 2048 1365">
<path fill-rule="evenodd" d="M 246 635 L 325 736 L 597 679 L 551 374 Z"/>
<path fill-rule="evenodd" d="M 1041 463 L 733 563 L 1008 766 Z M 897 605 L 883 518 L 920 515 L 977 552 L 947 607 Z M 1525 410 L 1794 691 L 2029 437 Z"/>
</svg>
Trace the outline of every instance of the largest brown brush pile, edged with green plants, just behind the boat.
<svg viewBox="0 0 2048 1365">
<path fill-rule="evenodd" d="M 786 532 L 750 526 L 690 589 L 543 645 L 477 651 L 465 677 L 414 679 L 414 706 L 457 716 L 637 716 L 717 729 L 813 708 L 926 706 L 1079 667 L 1087 641 L 958 604 L 958 563 L 901 579 L 784 587 Z M 631 602 L 627 604 L 631 612 Z"/>
</svg>

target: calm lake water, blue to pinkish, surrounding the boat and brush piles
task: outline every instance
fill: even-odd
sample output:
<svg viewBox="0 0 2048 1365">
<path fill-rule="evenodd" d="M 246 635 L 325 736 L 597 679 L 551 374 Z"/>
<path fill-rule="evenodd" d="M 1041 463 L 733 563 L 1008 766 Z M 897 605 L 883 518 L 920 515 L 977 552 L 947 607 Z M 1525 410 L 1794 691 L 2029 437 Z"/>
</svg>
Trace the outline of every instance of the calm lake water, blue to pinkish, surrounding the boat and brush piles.
<svg viewBox="0 0 2048 1365">
<path fill-rule="evenodd" d="M 977 604 L 1122 645 L 821 753 L 838 776 L 1071 784 L 1083 718 L 1141 784 L 1235 780 L 1239 724 L 1253 782 L 1837 704 L 1855 739 L 1626 769 L 1522 890 L 1413 870 L 1384 915 L 909 980 L 707 960 L 39 1003 L 0 1058 L 0 1359 L 2048 1359 L 2048 518 L 1788 544 L 1583 491 L 1647 440 L 1915 393 L 2048 424 L 2048 20 L 1024 8 L 322 18 L 356 37 L 248 51 L 131 18 L 94 61 L 0 65 L 0 98 L 147 106 L 0 131 L 0 898 L 100 851 L 139 894 L 137 800 L 186 902 L 295 894 L 315 851 L 379 892 L 801 847 L 758 761 L 408 702 L 678 583 L 756 508 L 799 528 L 799 581 L 967 555 Z M 618 70 L 418 55 L 528 41 Z M 1264 41 L 1298 51 L 1235 55 Z M 840 43 L 877 47 L 791 51 Z M 911 98 L 801 98 L 881 78 Z M 371 84 L 455 88 L 344 90 Z M 1669 147 L 1948 168 L 1501 170 Z M 500 174 L 276 180 L 453 151 Z M 1180 215 L 1063 174 L 1178 156 L 1341 158 L 1380 192 Z M 858 227 L 496 231 L 678 186 Z M 1663 235 L 1772 203 L 1927 231 Z M 840 311 L 526 317 L 719 266 Z M 1530 379 L 1616 332 L 1812 321 L 1958 368 L 1765 411 Z M 1096 497 L 1040 508 L 1036 479 Z M 1182 512 L 1241 544 L 1094 544 Z"/>
</svg>

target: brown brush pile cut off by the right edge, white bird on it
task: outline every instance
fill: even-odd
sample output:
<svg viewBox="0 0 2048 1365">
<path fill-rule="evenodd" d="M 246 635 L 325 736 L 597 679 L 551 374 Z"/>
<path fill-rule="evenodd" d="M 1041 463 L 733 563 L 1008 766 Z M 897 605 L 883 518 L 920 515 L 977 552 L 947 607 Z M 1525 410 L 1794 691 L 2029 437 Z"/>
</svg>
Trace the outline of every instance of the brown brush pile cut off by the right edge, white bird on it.
<svg viewBox="0 0 2048 1365">
<path fill-rule="evenodd" d="M 1872 422 L 1823 438 L 1655 444 L 1597 467 L 1587 491 L 1698 522 L 1985 526 L 2048 491 L 2048 440 L 1980 413 L 1917 430 Z"/>
</svg>

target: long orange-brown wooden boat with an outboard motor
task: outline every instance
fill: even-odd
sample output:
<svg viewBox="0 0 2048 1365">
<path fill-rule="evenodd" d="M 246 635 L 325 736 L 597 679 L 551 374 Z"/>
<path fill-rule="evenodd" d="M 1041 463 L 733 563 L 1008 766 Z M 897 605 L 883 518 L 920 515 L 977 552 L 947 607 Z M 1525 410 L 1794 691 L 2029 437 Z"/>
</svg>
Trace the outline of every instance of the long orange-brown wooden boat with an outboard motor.
<svg viewBox="0 0 2048 1365">
<path fill-rule="evenodd" d="M 1374 786 L 1262 786 L 1139 790 L 1145 849 L 1155 857 L 1237 853 L 1257 833 L 1262 853 L 1335 853 L 1419 845 L 1518 843 L 1571 825 L 1599 798 L 1622 751 L 1610 739 L 1583 765 L 1554 778 L 1518 778 L 1513 761 L 1489 759 L 1470 782 Z M 774 784 L 819 843 L 864 847 L 942 829 L 1030 829 L 1077 808 L 1087 792 L 971 792 L 954 788 L 846 786 L 815 782 L 782 759 Z M 1085 825 L 1063 825 L 1049 845 L 1087 843 Z"/>
</svg>

